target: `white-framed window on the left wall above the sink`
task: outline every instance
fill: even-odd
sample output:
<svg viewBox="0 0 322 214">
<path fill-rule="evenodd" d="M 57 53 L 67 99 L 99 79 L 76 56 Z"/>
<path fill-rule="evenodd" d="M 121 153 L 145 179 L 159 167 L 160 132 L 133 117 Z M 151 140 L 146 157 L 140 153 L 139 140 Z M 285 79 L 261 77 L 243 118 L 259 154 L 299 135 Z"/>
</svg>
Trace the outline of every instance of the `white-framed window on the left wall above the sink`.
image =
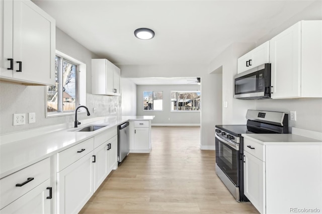
<svg viewBox="0 0 322 214">
<path fill-rule="evenodd" d="M 47 86 L 47 117 L 73 114 L 86 104 L 86 65 L 56 51 L 55 77 L 55 85 Z"/>
</svg>

